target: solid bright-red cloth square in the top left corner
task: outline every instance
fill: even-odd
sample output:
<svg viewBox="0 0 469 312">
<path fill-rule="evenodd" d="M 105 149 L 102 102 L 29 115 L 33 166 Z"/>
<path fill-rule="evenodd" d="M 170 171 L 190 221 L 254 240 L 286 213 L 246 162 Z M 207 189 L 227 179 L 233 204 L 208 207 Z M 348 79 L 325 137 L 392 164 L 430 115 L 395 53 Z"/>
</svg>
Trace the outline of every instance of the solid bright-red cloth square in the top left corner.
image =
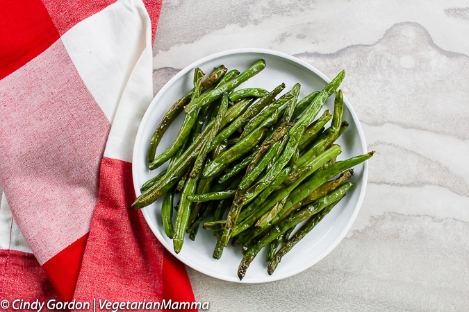
<svg viewBox="0 0 469 312">
<path fill-rule="evenodd" d="M 60 37 L 40 0 L 1 1 L 0 16 L 0 79 Z"/>
</svg>

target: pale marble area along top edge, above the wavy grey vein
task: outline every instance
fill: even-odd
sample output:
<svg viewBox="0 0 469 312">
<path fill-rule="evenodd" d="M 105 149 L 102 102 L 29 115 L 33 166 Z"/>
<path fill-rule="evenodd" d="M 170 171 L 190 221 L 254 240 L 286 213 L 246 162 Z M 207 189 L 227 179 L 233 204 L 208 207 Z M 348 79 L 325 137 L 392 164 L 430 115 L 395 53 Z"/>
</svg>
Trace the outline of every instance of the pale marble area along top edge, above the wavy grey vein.
<svg viewBox="0 0 469 312">
<path fill-rule="evenodd" d="M 467 6 L 463 0 L 165 1 L 154 62 L 182 68 L 207 53 L 242 47 L 334 53 L 374 44 L 402 22 L 425 27 L 441 49 L 469 54 Z"/>
</svg>

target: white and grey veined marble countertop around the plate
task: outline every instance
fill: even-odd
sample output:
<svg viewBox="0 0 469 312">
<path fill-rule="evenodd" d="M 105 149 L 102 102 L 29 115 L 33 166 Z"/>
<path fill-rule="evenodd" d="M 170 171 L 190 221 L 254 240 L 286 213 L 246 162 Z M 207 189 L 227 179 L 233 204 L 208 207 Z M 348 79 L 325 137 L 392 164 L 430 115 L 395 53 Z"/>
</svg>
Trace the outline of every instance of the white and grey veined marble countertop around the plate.
<svg viewBox="0 0 469 312">
<path fill-rule="evenodd" d="M 210 311 L 467 311 L 467 1 L 163 1 L 154 90 L 206 55 L 293 55 L 332 77 L 359 116 L 368 188 L 345 239 L 308 270 L 234 284 L 188 268 Z"/>
</svg>

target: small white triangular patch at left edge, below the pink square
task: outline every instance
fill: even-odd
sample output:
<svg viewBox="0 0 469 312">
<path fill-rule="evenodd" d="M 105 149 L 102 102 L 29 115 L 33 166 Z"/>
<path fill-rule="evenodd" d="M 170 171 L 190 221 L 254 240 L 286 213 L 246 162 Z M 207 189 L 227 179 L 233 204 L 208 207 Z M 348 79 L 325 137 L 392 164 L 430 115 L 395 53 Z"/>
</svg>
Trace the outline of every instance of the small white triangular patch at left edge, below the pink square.
<svg viewBox="0 0 469 312">
<path fill-rule="evenodd" d="M 0 249 L 32 253 L 15 220 L 13 220 L 10 207 L 1 188 L 0 193 Z"/>
</svg>

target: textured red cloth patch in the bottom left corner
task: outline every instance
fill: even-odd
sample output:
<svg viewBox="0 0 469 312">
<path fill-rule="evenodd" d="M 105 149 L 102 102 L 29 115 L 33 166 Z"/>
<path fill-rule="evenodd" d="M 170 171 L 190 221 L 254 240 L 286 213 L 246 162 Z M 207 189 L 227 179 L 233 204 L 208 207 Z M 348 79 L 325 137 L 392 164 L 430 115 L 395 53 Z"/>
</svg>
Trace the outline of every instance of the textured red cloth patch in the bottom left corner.
<svg viewBox="0 0 469 312">
<path fill-rule="evenodd" d="M 0 250 L 0 300 L 41 302 L 59 300 L 54 287 L 33 254 Z"/>
</svg>

